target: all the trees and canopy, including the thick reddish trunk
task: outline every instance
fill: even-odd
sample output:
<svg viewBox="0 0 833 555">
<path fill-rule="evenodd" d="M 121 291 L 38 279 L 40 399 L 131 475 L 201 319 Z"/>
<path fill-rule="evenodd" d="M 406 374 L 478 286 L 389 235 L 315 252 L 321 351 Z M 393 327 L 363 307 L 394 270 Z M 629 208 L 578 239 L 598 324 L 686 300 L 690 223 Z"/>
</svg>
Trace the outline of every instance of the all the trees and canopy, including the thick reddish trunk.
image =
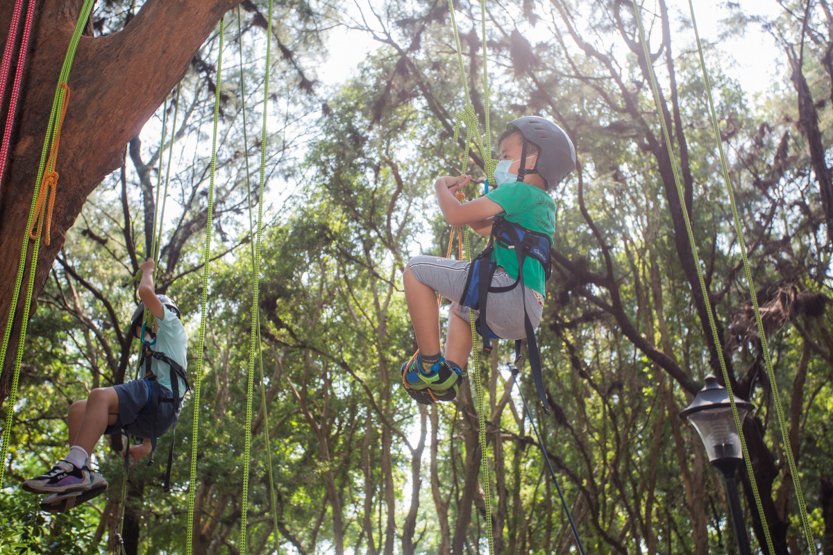
<svg viewBox="0 0 833 555">
<path fill-rule="evenodd" d="M 730 4 L 721 22 L 721 39 L 762 29 L 781 53 L 772 60 L 776 82 L 753 95 L 720 41 L 703 45 L 706 82 L 686 6 L 637 2 L 658 77 L 655 104 L 631 2 L 486 0 L 485 37 L 480 2 L 459 2 L 462 68 L 449 4 L 436 0 L 276 2 L 272 36 L 264 0 L 97 2 L 67 82 L 52 242 L 34 261 L 32 314 L 18 345 L 26 282 L 9 325 L 12 285 L 82 2 L 38 4 L 21 104 L 12 116 L 8 98 L 0 105 L 0 128 L 13 117 L 0 181 L 0 321 L 10 338 L 3 413 L 12 405 L 0 553 L 106 553 L 117 547 L 122 509 L 127 553 L 240 553 L 243 544 L 249 553 L 486 553 L 486 503 L 493 553 L 577 553 L 545 458 L 587 553 L 738 553 L 721 474 L 679 417 L 706 374 L 725 382 L 721 355 L 726 385 L 755 407 L 743 423 L 753 473 L 741 465 L 736 474 L 753 553 L 833 553 L 833 12 L 828 2 L 777 3 L 766 17 Z M 11 20 L 6 4 L 2 29 Z M 376 47 L 332 82 L 322 62 L 339 29 Z M 491 124 L 487 147 L 495 149 L 507 122 L 533 114 L 576 145 L 576 171 L 551 191 L 553 275 L 537 331 L 551 414 L 533 402 L 528 367 L 510 373 L 506 341 L 481 356 L 483 399 L 472 364 L 452 403 L 418 405 L 402 390 L 400 366 L 416 349 L 402 271 L 412 255 L 445 255 L 451 239 L 431 184 L 467 171 L 474 180 L 466 195 L 480 196 L 485 161 L 495 156 L 466 144 L 472 130 L 455 132 L 464 87 L 476 132 Z M 92 457 L 107 492 L 68 513 L 41 513 L 20 483 L 66 452 L 68 406 L 137 372 L 131 278 L 150 251 L 166 183 L 156 285 L 177 301 L 192 361 L 207 324 L 199 404 L 187 398 L 176 436 L 164 435 L 157 452 L 174 444 L 172 491 L 162 491 L 157 454 L 152 467 L 132 468 L 122 507 L 125 439 L 107 436 Z M 250 207 L 263 214 L 257 276 Z M 206 234 L 213 247 L 202 314 Z M 484 242 L 471 240 L 476 253 Z M 253 364 L 252 311 L 260 339 Z"/>
</svg>

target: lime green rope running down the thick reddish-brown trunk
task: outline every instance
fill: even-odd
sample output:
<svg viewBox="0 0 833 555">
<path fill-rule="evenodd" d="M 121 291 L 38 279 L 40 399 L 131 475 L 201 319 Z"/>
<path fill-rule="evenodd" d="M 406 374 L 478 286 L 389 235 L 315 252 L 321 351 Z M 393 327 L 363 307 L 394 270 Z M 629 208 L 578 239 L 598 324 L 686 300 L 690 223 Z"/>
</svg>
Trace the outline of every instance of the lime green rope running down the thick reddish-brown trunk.
<svg viewBox="0 0 833 555">
<path fill-rule="evenodd" d="M 78 46 L 78 41 L 81 38 L 81 32 L 87 25 L 87 19 L 90 17 L 92 4 L 95 0 L 84 0 L 81 7 L 81 12 L 78 15 L 78 21 L 75 24 L 75 30 L 72 32 L 69 46 L 67 47 L 67 54 L 63 59 L 63 66 L 61 73 L 58 75 L 57 88 L 55 97 L 52 99 L 52 111 L 49 114 L 49 121 L 47 123 L 46 138 L 43 141 L 43 148 L 41 151 L 41 159 L 37 167 L 37 180 L 35 181 L 35 190 L 32 191 L 32 204 L 29 206 L 29 216 L 26 223 L 26 230 L 23 231 L 22 245 L 20 250 L 20 260 L 17 263 L 17 276 L 15 277 L 14 290 L 12 292 L 12 304 L 9 306 L 8 317 L 6 322 L 6 330 L 3 331 L 2 346 L 0 346 L 0 369 L 5 368 L 6 354 L 8 350 L 9 339 L 12 336 L 12 325 L 14 324 L 14 315 L 17 311 L 17 300 L 20 297 L 20 289 L 23 283 L 23 275 L 26 272 L 26 259 L 29 246 L 28 230 L 32 227 L 32 221 L 35 219 L 35 206 L 37 204 L 37 197 L 40 194 L 41 183 L 43 179 L 43 169 L 46 165 L 47 151 L 49 146 L 54 141 L 55 123 L 58 116 L 59 107 L 62 105 L 63 88 L 62 84 L 66 84 L 69 72 L 72 69 L 72 60 L 75 57 L 75 50 Z M 0 449 L 0 487 L 2 487 L 2 479 L 6 470 L 6 457 L 8 455 L 8 441 L 12 432 L 12 415 L 14 414 L 14 406 L 17 404 L 17 384 L 20 379 L 20 365 L 23 359 L 23 348 L 26 343 L 26 331 L 29 324 L 29 310 L 32 307 L 32 295 L 35 288 L 35 270 L 37 270 L 37 255 L 40 252 L 41 238 L 40 235 L 32 245 L 32 262 L 29 265 L 29 275 L 26 287 L 26 304 L 23 308 L 23 315 L 20 325 L 20 335 L 17 343 L 17 355 L 14 360 L 14 369 L 12 372 L 12 384 L 9 388 L 6 411 L 6 425 L 3 428 L 2 435 L 2 449 Z"/>
</svg>

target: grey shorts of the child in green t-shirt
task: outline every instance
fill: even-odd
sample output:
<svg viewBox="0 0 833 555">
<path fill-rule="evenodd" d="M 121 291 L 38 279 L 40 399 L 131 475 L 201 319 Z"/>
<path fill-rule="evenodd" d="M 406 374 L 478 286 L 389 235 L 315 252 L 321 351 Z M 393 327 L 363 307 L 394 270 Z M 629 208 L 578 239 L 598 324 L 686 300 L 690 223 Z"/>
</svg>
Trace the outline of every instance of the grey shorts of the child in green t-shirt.
<svg viewBox="0 0 833 555">
<path fill-rule="evenodd" d="M 421 284 L 428 285 L 432 290 L 448 300 L 456 303 L 457 315 L 469 321 L 469 308 L 460 305 L 463 288 L 466 286 L 466 275 L 470 262 L 441 258 L 439 256 L 414 256 L 408 261 L 414 277 Z M 506 274 L 502 268 L 495 271 L 491 280 L 493 287 L 506 287 L 515 283 L 515 279 Z M 489 292 L 486 301 L 486 325 L 503 339 L 524 339 L 526 329 L 523 322 L 523 302 L 526 298 L 526 314 L 533 328 L 541 322 L 544 311 L 544 295 L 526 287 L 526 295 L 518 286 L 506 293 Z M 477 311 L 475 310 L 475 316 Z"/>
</svg>

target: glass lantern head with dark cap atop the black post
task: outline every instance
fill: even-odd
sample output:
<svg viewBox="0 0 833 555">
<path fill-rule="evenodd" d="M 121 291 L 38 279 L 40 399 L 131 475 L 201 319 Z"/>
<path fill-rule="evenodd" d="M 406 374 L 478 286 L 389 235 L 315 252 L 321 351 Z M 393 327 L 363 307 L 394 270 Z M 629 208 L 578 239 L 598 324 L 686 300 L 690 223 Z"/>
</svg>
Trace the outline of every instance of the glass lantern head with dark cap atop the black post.
<svg viewBox="0 0 833 555">
<path fill-rule="evenodd" d="M 746 413 L 754 408 L 749 401 L 737 397 L 735 406 L 741 423 Z M 691 404 L 681 411 L 680 416 L 691 422 L 697 434 L 700 434 L 709 462 L 724 474 L 734 473 L 743 460 L 741 437 L 731 413 L 728 391 L 717 383 L 714 374 L 706 376 L 706 385 L 697 392 Z"/>
</svg>

